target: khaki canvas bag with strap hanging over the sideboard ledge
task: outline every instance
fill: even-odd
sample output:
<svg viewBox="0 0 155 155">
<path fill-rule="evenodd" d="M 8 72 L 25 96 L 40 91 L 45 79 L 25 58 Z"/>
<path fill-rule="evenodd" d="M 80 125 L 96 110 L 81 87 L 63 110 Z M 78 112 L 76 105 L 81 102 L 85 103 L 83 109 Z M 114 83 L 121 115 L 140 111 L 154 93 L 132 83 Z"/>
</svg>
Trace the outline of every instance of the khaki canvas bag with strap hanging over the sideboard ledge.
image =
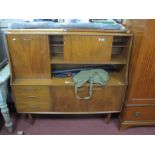
<svg viewBox="0 0 155 155">
<path fill-rule="evenodd" d="M 92 97 L 92 87 L 93 84 L 98 84 L 100 86 L 106 85 L 109 80 L 108 72 L 103 69 L 90 69 L 80 71 L 73 77 L 73 81 L 75 84 L 75 95 L 77 99 L 90 99 Z M 85 83 L 89 82 L 89 96 L 79 97 L 78 96 L 78 88 L 82 87 Z"/>
</svg>

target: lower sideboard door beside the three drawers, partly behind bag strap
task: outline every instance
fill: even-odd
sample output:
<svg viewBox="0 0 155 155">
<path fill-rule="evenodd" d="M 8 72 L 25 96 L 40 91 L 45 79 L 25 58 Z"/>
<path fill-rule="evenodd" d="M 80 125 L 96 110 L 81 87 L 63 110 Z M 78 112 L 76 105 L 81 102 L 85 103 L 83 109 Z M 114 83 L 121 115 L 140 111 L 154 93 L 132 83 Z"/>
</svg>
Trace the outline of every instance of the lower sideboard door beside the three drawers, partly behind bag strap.
<svg viewBox="0 0 155 155">
<path fill-rule="evenodd" d="M 80 93 L 86 96 L 88 92 Z M 73 86 L 52 86 L 51 96 L 54 112 L 87 112 L 87 100 L 76 99 Z"/>
</svg>

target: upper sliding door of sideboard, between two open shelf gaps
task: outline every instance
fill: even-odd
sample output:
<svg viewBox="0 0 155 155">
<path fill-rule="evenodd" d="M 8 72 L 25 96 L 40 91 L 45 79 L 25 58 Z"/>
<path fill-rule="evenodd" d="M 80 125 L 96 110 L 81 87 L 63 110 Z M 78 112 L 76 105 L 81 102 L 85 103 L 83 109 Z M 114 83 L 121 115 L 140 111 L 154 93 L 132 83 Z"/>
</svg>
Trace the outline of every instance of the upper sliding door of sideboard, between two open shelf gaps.
<svg viewBox="0 0 155 155">
<path fill-rule="evenodd" d="M 110 61 L 112 36 L 64 36 L 64 59 L 66 61 Z"/>
</svg>

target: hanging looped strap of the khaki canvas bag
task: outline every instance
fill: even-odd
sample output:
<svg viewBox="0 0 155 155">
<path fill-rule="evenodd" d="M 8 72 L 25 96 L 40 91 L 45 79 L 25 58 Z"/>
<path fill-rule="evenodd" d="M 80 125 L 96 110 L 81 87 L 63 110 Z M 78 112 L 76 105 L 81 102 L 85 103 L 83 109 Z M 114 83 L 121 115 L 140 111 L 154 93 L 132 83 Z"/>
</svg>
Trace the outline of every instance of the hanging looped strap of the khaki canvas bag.
<svg viewBox="0 0 155 155">
<path fill-rule="evenodd" d="M 78 96 L 78 87 L 75 85 L 75 95 L 77 99 L 84 99 L 84 100 L 88 100 L 92 97 L 92 88 L 93 88 L 93 81 L 90 80 L 89 81 L 89 96 L 86 97 L 79 97 Z"/>
</svg>

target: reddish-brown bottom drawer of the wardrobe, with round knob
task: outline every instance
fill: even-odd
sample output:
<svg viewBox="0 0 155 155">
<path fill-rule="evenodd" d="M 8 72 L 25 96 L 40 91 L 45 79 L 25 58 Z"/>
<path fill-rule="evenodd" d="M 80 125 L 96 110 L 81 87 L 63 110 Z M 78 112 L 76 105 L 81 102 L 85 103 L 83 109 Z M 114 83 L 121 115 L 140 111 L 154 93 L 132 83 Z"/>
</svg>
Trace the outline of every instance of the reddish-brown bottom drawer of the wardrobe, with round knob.
<svg viewBox="0 0 155 155">
<path fill-rule="evenodd" d="M 125 107 L 124 121 L 155 121 L 155 106 L 151 107 Z"/>
</svg>

